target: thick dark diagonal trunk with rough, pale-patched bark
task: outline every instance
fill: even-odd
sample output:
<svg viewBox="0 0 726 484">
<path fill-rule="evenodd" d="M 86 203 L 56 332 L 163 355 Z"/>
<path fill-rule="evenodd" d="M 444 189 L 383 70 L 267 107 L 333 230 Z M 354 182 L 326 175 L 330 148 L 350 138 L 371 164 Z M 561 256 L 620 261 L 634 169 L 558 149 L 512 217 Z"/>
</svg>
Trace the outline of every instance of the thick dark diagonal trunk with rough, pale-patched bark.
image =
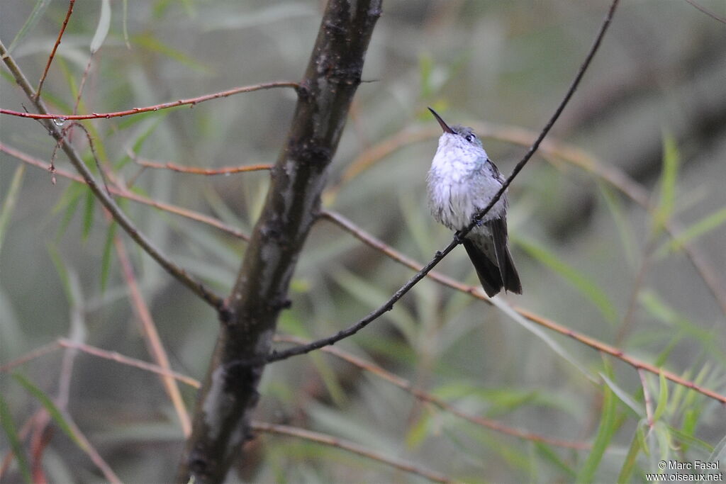
<svg viewBox="0 0 726 484">
<path fill-rule="evenodd" d="M 382 0 L 330 0 L 298 89 L 287 143 L 256 223 L 197 398 L 192 435 L 177 481 L 219 483 L 242 457 L 257 386 L 303 242 L 315 221 L 327 167 L 361 81 L 365 52 Z"/>
</svg>

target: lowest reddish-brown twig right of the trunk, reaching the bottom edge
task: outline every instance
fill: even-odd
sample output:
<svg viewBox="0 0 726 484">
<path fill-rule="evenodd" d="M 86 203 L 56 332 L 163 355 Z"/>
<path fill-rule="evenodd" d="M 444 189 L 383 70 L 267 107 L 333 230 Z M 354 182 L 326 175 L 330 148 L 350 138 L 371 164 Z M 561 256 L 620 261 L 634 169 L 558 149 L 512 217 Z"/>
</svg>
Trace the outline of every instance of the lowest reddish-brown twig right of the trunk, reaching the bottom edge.
<svg viewBox="0 0 726 484">
<path fill-rule="evenodd" d="M 383 464 L 387 464 L 391 467 L 396 467 L 396 469 L 402 470 L 404 472 L 420 475 L 421 477 L 425 477 L 426 479 L 431 480 L 434 483 L 454 482 L 454 480 L 446 477 L 443 474 L 439 474 L 439 472 L 433 472 L 431 470 L 424 469 L 423 467 L 417 466 L 416 464 L 410 464 L 409 462 L 401 459 L 394 459 L 387 454 L 372 451 L 348 440 L 333 437 L 333 435 L 327 435 L 320 432 L 312 432 L 311 430 L 305 430 L 298 427 L 290 427 L 288 425 L 268 424 L 266 422 L 252 422 L 250 424 L 250 427 L 252 427 L 253 430 L 257 430 L 258 432 L 289 435 L 290 437 L 303 438 L 305 440 L 310 440 L 311 442 L 322 443 L 326 446 L 341 448 L 344 451 L 358 454 L 359 456 L 366 457 L 367 459 L 372 459 Z"/>
</svg>

